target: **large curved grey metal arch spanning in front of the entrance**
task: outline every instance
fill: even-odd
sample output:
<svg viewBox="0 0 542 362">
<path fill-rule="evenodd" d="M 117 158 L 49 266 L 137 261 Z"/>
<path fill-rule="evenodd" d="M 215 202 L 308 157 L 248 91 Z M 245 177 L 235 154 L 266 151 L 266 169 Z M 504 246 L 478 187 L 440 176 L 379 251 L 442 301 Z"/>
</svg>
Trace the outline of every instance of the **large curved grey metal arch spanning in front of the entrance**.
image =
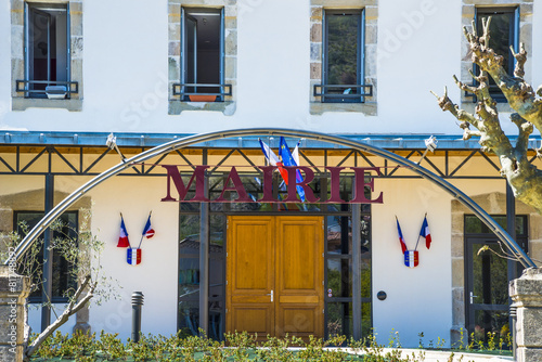
<svg viewBox="0 0 542 362">
<path fill-rule="evenodd" d="M 21 258 L 34 241 L 72 204 L 85 195 L 88 191 L 92 190 L 103 181 L 111 177 L 120 173 L 122 170 L 133 167 L 139 163 L 147 160 L 150 158 L 163 155 L 165 153 L 173 152 L 179 148 L 195 145 L 206 141 L 212 141 L 221 138 L 241 137 L 241 135 L 285 135 L 285 137 L 304 137 L 310 140 L 324 141 L 328 143 L 334 143 L 350 147 L 358 151 L 363 151 L 375 156 L 383 157 L 385 159 L 395 161 L 401 166 L 409 167 L 413 172 L 420 174 L 422 178 L 431 181 L 433 183 L 439 185 L 441 189 L 447 191 L 468 209 L 470 209 L 488 228 L 501 240 L 512 251 L 512 254 L 521 262 L 525 268 L 535 268 L 534 262 L 529 258 L 529 256 L 516 244 L 516 242 L 508 235 L 508 233 L 501 228 L 490 216 L 487 214 L 478 204 L 476 204 L 470 197 L 468 197 L 461 190 L 452 185 L 450 182 L 446 181 L 441 177 L 435 174 L 428 169 L 404 158 L 392 152 L 365 144 L 363 142 L 348 140 L 343 137 L 324 134 L 319 132 L 311 132 L 305 130 L 295 129 L 281 129 L 281 128 L 248 128 L 248 129 L 233 129 L 225 131 L 217 131 L 209 133 L 202 133 L 195 135 L 189 135 L 185 138 L 177 139 L 170 142 L 166 142 L 149 151 L 142 152 L 131 158 L 125 159 L 122 163 L 109 168 L 108 170 L 94 177 L 92 180 L 85 183 L 82 186 L 74 191 L 66 198 L 64 198 L 59 205 L 56 205 L 49 214 L 47 214 L 43 219 L 41 219 L 36 227 L 25 236 L 23 242 L 17 245 L 14 253 L 11 254 L 5 261 L 9 264 L 11 260 Z"/>
</svg>

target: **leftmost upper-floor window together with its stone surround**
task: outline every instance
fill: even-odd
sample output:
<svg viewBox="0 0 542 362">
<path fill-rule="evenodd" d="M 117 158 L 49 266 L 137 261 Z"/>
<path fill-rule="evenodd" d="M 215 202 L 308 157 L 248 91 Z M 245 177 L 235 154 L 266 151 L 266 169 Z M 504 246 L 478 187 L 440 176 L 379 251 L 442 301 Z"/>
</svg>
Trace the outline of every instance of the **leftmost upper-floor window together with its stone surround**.
<svg viewBox="0 0 542 362">
<path fill-rule="evenodd" d="M 11 0 L 12 109 L 82 109 L 82 2 Z"/>
</svg>

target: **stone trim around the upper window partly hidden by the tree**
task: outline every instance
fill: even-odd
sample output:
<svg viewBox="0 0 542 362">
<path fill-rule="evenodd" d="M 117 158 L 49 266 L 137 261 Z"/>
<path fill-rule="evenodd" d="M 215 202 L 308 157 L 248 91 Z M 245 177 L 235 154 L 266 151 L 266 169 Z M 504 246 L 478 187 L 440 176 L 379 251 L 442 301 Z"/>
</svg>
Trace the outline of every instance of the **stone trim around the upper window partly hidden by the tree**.
<svg viewBox="0 0 542 362">
<path fill-rule="evenodd" d="M 463 36 L 463 27 L 468 31 L 473 29 L 473 21 L 477 8 L 515 8 L 519 7 L 519 42 L 525 44 L 527 51 L 527 62 L 525 63 L 525 80 L 531 82 L 532 79 L 532 8 L 533 0 L 462 0 L 461 9 L 461 81 L 472 83 L 473 77 L 468 70 L 473 70 L 473 62 L 468 52 L 468 42 Z M 473 98 L 461 94 L 461 106 L 470 113 L 474 113 L 476 103 Z M 498 103 L 499 112 L 514 112 L 508 103 Z"/>
</svg>

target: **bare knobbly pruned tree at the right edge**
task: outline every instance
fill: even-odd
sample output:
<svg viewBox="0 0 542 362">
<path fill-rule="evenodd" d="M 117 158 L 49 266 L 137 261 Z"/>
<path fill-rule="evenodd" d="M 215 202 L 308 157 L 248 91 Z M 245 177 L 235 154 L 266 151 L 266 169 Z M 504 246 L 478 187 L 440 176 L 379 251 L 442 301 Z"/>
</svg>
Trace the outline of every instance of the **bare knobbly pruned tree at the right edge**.
<svg viewBox="0 0 542 362">
<path fill-rule="evenodd" d="M 542 96 L 542 87 L 539 87 L 535 93 L 532 87 L 524 80 L 527 52 L 522 43 L 519 53 L 516 53 L 511 47 L 512 54 L 516 59 L 516 67 L 514 76 L 506 73 L 503 67 L 504 57 L 489 47 L 490 23 L 491 17 L 488 17 L 487 21 L 482 20 L 483 34 L 481 36 L 477 34 L 474 22 L 472 31 L 468 31 L 466 27 L 463 28 L 470 48 L 473 63 L 480 68 L 478 75 L 470 72 L 478 86 L 465 85 L 459 81 L 455 76 L 453 77 L 461 90 L 476 95 L 475 113 L 468 113 L 454 104 L 448 98 L 446 88 L 442 96 L 431 93 L 437 96 L 442 111 L 449 111 L 461 121 L 460 127 L 463 129 L 464 140 L 479 137 L 482 151 L 499 156 L 501 174 L 506 178 L 516 198 L 542 214 L 542 171 L 533 166 L 527 157 L 529 135 L 532 133 L 533 127 L 542 133 L 542 99 L 537 98 L 537 95 Z M 506 96 L 509 106 L 515 111 L 511 115 L 511 121 L 519 129 L 515 145 L 502 130 L 496 102 L 489 92 L 489 76 L 493 78 Z M 470 126 L 476 130 L 470 130 Z M 540 148 L 537 150 L 537 155 L 542 157 Z"/>
</svg>

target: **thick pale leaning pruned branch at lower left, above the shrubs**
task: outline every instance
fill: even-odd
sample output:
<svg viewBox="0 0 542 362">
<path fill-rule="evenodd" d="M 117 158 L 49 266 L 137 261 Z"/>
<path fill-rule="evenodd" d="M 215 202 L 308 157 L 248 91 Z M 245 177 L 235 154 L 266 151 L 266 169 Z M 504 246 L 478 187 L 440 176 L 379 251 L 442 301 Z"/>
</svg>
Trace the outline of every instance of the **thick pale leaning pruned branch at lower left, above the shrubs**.
<svg viewBox="0 0 542 362">
<path fill-rule="evenodd" d="M 82 309 L 90 299 L 94 296 L 94 289 L 96 287 L 96 282 L 91 280 L 90 275 L 85 276 L 85 281 L 79 285 L 77 290 L 75 292 L 73 298 L 70 299 L 67 308 L 64 312 L 50 324 L 46 331 L 41 332 L 41 334 L 26 348 L 25 350 L 25 360 L 28 360 L 30 355 L 36 352 L 36 350 L 41 346 L 41 344 L 54 333 L 61 325 L 67 322 L 69 316 L 77 313 L 80 309 Z M 86 292 L 86 295 L 81 298 L 81 294 Z"/>
</svg>

